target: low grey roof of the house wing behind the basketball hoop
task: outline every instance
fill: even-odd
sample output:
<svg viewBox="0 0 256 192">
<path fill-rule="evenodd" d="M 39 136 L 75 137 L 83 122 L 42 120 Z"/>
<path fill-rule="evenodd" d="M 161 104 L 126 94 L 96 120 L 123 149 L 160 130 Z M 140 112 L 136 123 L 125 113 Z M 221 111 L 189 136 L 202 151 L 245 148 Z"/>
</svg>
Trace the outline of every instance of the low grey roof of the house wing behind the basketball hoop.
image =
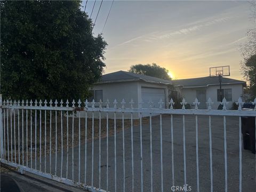
<svg viewBox="0 0 256 192">
<path fill-rule="evenodd" d="M 198 77 L 198 78 L 189 78 L 189 79 L 179 79 L 173 80 L 172 83 L 177 86 L 186 87 L 205 87 L 209 85 L 219 85 L 219 77 Z M 237 79 L 231 79 L 227 77 L 222 77 L 221 81 L 222 85 L 229 85 L 229 84 L 243 84 L 246 85 L 246 82 L 240 81 Z"/>
</svg>

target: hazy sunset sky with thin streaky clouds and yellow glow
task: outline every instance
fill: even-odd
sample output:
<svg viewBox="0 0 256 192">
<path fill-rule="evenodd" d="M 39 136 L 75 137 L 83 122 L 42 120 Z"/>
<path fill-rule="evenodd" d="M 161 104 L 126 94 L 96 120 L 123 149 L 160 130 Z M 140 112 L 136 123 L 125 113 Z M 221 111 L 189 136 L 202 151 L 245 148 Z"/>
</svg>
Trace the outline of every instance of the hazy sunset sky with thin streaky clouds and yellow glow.
<svg viewBox="0 0 256 192">
<path fill-rule="evenodd" d="M 87 2 L 93 22 L 100 3 L 92 12 L 94 1 Z M 111 3 L 103 1 L 94 35 L 101 33 Z M 182 79 L 229 65 L 230 78 L 243 79 L 239 46 L 255 27 L 251 13 L 247 1 L 114 1 L 102 34 L 108 43 L 105 73 L 154 62 Z"/>
</svg>

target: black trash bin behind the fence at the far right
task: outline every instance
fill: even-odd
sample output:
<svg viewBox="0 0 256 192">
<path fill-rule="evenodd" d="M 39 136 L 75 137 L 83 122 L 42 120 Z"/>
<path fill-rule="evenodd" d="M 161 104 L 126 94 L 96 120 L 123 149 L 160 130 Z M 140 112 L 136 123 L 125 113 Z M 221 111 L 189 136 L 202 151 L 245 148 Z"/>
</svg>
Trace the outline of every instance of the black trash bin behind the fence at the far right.
<svg viewBox="0 0 256 192">
<path fill-rule="evenodd" d="M 254 107 L 252 103 L 244 103 L 243 110 L 252 110 Z M 255 117 L 242 117 L 242 133 L 244 149 L 255 154 Z"/>
</svg>

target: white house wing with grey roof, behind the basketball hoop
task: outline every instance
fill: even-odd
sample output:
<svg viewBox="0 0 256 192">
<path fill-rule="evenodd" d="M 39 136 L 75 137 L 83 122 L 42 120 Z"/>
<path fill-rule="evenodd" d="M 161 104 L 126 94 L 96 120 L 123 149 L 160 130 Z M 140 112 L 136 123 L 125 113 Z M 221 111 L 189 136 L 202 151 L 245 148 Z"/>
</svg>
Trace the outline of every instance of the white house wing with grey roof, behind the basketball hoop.
<svg viewBox="0 0 256 192">
<path fill-rule="evenodd" d="M 209 98 L 212 99 L 212 109 L 217 109 L 220 105 L 220 83 L 219 77 L 198 77 L 189 79 L 179 79 L 172 81 L 176 87 L 177 92 L 180 94 L 178 97 L 185 98 L 186 101 L 193 108 L 195 98 L 199 100 L 199 109 L 206 109 L 206 102 Z M 228 105 L 227 109 L 231 109 L 233 103 L 239 97 L 244 96 L 244 87 L 246 82 L 236 79 L 222 77 L 221 89 L 222 99 L 226 98 Z"/>
</svg>

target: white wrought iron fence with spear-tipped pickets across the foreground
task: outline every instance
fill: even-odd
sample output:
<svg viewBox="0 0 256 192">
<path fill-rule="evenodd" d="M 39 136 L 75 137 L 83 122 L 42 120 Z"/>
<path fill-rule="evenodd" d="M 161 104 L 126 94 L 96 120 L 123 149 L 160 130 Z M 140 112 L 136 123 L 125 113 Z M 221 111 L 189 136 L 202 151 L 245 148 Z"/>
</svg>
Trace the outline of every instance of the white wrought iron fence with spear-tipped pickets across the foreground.
<svg viewBox="0 0 256 192">
<path fill-rule="evenodd" d="M 256 99 L 253 103 L 255 102 Z M 216 191 L 213 178 L 212 132 L 219 130 L 218 138 L 222 137 L 223 133 L 222 189 L 228 191 L 229 135 L 226 118 L 234 117 L 233 121 L 238 124 L 230 125 L 230 130 L 237 131 L 230 137 L 237 136 L 236 140 L 232 140 L 232 145 L 237 145 L 233 150 L 238 153 L 239 166 L 232 164 L 234 167 L 230 169 L 238 169 L 239 174 L 238 183 L 231 180 L 230 185 L 237 184 L 236 191 L 242 191 L 242 117 L 255 117 L 256 107 L 250 111 L 241 110 L 241 98 L 237 102 L 238 110 L 226 110 L 225 98 L 221 102 L 223 110 L 212 110 L 213 102 L 210 98 L 207 101 L 208 109 L 198 109 L 200 102 L 197 99 L 193 103 L 195 109 L 186 109 L 185 99 L 181 102 L 182 109 L 173 109 L 175 103 L 172 99 L 169 109 L 162 109 L 161 100 L 157 109 L 133 108 L 133 100 L 127 105 L 122 100 L 120 106 L 116 100 L 111 106 L 107 101 L 106 107 L 101 107 L 101 101 L 99 107 L 94 107 L 94 101 L 91 107 L 88 107 L 88 103 L 86 100 L 82 106 L 81 100 L 77 103 L 73 100 L 69 105 L 67 100 L 63 106 L 62 100 L 2 102 L 0 98 L 1 162 L 17 167 L 21 173 L 31 172 L 90 191 L 190 191 L 191 187 L 193 191 L 198 192 L 206 189 Z M 85 113 L 84 118 L 81 117 L 81 111 Z M 98 118 L 94 118 L 95 114 Z M 109 114 L 113 115 L 114 119 L 110 119 Z M 117 114 L 122 118 L 117 119 Z M 124 119 L 124 114 L 130 114 L 130 119 Z M 148 114 L 148 117 L 143 114 Z M 154 114 L 159 115 L 154 117 Z M 138 119 L 134 118 L 135 115 L 138 115 Z M 190 122 L 187 123 L 186 118 L 190 119 Z M 223 123 L 219 122 L 220 120 Z M 186 133 L 186 129 L 192 132 L 192 136 Z M 199 162 L 200 155 L 205 158 L 201 151 L 203 149 L 199 146 L 198 132 L 201 130 L 203 138 L 209 136 L 209 162 L 206 163 Z M 186 139 L 187 137 L 190 139 Z M 189 148 L 193 139 L 196 145 L 195 156 Z M 189 145 L 186 142 L 189 142 Z M 178 159 L 175 157 L 175 151 Z M 191 163 L 191 156 L 195 157 L 196 162 Z M 255 159 L 249 161 L 254 161 L 255 165 Z M 191 171 L 190 164 L 195 165 L 196 170 Z M 190 168 L 187 170 L 188 167 Z M 209 173 L 205 170 L 209 170 Z M 183 175 L 177 171 L 182 171 Z M 255 175 L 255 172 L 253 174 Z M 196 179 L 191 179 L 191 175 Z M 210 181 L 204 182 L 200 179 L 202 177 L 209 178 Z M 250 186 L 250 182 L 255 185 L 255 178 L 254 181 L 245 182 L 246 186 Z M 202 183 L 203 187 L 200 185 Z"/>
</svg>

